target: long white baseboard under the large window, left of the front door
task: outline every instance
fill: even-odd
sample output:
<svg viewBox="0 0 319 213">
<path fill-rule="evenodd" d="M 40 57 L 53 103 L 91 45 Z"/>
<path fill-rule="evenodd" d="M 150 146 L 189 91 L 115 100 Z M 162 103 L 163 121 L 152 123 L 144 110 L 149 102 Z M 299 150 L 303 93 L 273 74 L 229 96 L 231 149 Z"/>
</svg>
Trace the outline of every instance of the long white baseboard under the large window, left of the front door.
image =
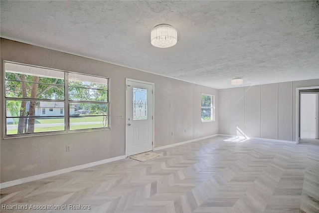
<svg viewBox="0 0 319 213">
<path fill-rule="evenodd" d="M 40 175 L 35 175 L 35 176 L 27 177 L 27 178 L 22 178 L 22 179 L 18 179 L 18 180 L 14 180 L 14 181 L 8 181 L 8 182 L 1 183 L 0 189 L 16 186 L 19 184 L 24 184 L 24 183 L 31 182 L 31 181 L 37 181 L 37 180 L 40 180 L 43 178 L 49 178 L 52 176 L 61 175 L 61 174 L 68 173 L 68 172 L 73 172 L 76 170 L 94 167 L 94 166 L 98 166 L 101 164 L 106 164 L 106 163 L 110 163 L 110 162 L 118 161 L 118 160 L 122 160 L 122 159 L 125 159 L 125 155 L 118 156 L 115 158 L 105 159 L 102 161 L 96 161 L 96 162 L 92 162 L 92 163 L 88 163 L 88 164 L 83 164 L 83 165 L 79 165 L 79 166 L 75 166 L 75 167 L 70 167 L 70 168 L 66 168 L 66 169 L 62 169 L 62 170 L 57 170 L 57 171 L 53 171 L 53 172 L 48 172 L 48 173 L 44 173 L 44 174 L 40 174 Z"/>
</svg>

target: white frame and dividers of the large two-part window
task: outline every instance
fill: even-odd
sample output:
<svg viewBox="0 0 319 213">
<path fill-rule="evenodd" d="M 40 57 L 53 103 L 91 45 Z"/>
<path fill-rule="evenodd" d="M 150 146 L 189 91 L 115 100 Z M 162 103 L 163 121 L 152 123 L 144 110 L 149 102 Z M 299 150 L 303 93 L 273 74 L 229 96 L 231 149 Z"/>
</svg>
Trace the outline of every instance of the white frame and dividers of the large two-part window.
<svg viewBox="0 0 319 213">
<path fill-rule="evenodd" d="M 2 138 L 20 138 L 20 137 L 30 137 L 30 136 L 38 136 L 38 135 L 54 135 L 54 134 L 65 134 L 65 133 L 73 133 L 73 132 L 89 132 L 89 131 L 101 131 L 101 130 L 110 130 L 110 78 L 108 77 L 101 77 L 101 76 L 96 76 L 96 75 L 89 75 L 89 74 L 83 74 L 83 73 L 77 73 L 77 72 L 69 72 L 65 70 L 58 70 L 58 69 L 53 69 L 53 68 L 48 68 L 48 67 L 41 67 L 41 66 L 35 66 L 35 65 L 30 65 L 30 64 L 24 64 L 24 63 L 18 63 L 18 62 L 13 62 L 13 61 L 7 61 L 3 60 L 3 135 Z M 5 96 L 5 64 L 6 63 L 13 63 L 13 64 L 19 64 L 19 65 L 25 65 L 25 66 L 30 66 L 30 67 L 39 67 L 39 68 L 44 68 L 44 69 L 49 69 L 49 70 L 56 70 L 56 71 L 61 71 L 64 72 L 64 100 L 59 100 L 60 102 L 64 102 L 64 115 L 60 115 L 57 117 L 64 117 L 64 131 L 48 131 L 48 132 L 38 132 L 38 133 L 23 133 L 23 134 L 12 134 L 12 135 L 6 135 L 6 101 L 7 100 L 18 100 L 19 98 L 10 98 Z M 94 77 L 99 77 L 99 78 L 104 78 L 107 80 L 107 101 L 101 101 L 101 102 L 96 102 L 96 101 L 82 101 L 86 103 L 100 103 L 100 104 L 106 104 L 107 105 L 107 127 L 101 127 L 101 128 L 91 128 L 91 129 L 78 129 L 78 130 L 70 130 L 70 125 L 69 125 L 69 94 L 68 94 L 68 73 L 76 73 L 79 75 L 83 76 L 94 76 Z M 30 99 L 30 98 L 21 98 L 21 100 L 35 100 L 35 101 L 56 101 L 53 99 Z M 79 100 L 81 102 L 81 100 Z M 43 109 L 42 109 L 43 110 Z M 45 109 L 44 109 L 45 110 Z M 45 110 L 46 111 L 46 110 Z M 43 111 L 42 111 L 43 112 Z M 45 113 L 44 113 L 45 114 Z M 46 116 L 44 116 L 46 117 Z"/>
</svg>

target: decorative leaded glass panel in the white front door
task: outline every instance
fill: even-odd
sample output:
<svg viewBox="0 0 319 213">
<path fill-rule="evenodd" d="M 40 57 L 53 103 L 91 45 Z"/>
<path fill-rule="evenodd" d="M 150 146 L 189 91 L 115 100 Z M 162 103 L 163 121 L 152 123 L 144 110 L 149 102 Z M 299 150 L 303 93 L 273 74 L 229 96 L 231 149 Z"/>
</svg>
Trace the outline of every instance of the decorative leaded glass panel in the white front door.
<svg viewBox="0 0 319 213">
<path fill-rule="evenodd" d="M 133 120 L 148 119 L 148 90 L 133 88 Z"/>
</svg>

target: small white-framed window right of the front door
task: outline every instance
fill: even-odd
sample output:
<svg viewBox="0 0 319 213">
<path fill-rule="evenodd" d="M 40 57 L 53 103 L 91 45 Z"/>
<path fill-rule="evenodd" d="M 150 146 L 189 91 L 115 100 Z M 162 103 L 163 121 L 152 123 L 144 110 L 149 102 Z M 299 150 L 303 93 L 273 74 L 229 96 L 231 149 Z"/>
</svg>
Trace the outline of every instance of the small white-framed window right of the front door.
<svg viewBox="0 0 319 213">
<path fill-rule="evenodd" d="M 215 96 L 201 94 L 201 121 L 215 121 Z"/>
</svg>

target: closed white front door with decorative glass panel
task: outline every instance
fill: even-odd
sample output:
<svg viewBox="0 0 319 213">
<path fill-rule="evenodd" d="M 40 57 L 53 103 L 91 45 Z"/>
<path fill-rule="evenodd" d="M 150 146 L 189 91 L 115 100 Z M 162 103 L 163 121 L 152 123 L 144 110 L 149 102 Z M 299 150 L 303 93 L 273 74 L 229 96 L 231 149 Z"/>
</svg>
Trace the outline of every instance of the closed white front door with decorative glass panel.
<svg viewBox="0 0 319 213">
<path fill-rule="evenodd" d="M 126 79 L 126 156 L 153 149 L 153 86 Z"/>
</svg>

